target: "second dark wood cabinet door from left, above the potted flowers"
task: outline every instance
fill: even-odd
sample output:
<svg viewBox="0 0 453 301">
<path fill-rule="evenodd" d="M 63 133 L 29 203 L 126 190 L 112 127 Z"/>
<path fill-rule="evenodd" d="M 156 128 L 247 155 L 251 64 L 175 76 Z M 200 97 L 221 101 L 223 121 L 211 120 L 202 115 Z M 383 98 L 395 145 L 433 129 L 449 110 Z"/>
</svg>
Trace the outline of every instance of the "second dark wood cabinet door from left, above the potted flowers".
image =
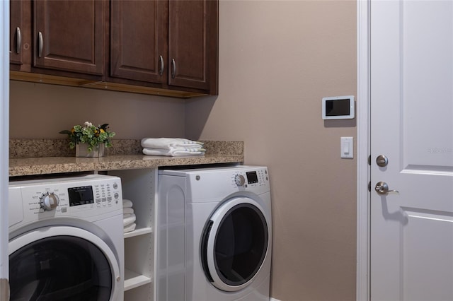
<svg viewBox="0 0 453 301">
<path fill-rule="evenodd" d="M 33 66 L 102 75 L 105 1 L 36 0 Z"/>
</svg>

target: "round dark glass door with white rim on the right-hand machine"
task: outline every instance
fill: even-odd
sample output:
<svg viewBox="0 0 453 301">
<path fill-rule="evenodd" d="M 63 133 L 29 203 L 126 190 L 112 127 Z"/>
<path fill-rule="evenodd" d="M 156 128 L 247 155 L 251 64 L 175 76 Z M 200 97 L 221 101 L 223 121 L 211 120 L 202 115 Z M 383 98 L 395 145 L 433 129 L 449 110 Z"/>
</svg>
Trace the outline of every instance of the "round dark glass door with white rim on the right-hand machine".
<svg viewBox="0 0 453 301">
<path fill-rule="evenodd" d="M 207 221 L 202 235 L 202 266 L 220 290 L 241 290 L 253 281 L 268 252 L 268 223 L 262 206 L 236 197 L 223 203 Z"/>
</svg>

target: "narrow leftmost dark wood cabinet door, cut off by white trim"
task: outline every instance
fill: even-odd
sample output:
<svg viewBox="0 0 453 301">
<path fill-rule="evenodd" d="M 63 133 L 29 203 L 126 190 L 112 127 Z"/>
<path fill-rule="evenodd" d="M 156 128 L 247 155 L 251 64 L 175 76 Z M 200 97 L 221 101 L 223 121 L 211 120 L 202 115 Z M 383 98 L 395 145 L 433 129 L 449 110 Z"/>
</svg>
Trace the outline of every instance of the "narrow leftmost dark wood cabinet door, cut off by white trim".
<svg viewBox="0 0 453 301">
<path fill-rule="evenodd" d="M 9 8 L 11 70 L 30 69 L 30 1 L 11 0 Z"/>
</svg>

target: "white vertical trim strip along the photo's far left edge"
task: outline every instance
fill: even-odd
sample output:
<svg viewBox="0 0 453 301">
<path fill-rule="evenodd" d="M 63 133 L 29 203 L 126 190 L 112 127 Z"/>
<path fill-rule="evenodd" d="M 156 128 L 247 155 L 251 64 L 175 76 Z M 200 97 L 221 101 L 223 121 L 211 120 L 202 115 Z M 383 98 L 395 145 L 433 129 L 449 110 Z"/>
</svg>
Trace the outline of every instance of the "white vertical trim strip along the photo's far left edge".
<svg viewBox="0 0 453 301">
<path fill-rule="evenodd" d="M 9 274 L 9 1 L 0 1 L 0 20 L 0 278 L 7 279 Z"/>
</svg>

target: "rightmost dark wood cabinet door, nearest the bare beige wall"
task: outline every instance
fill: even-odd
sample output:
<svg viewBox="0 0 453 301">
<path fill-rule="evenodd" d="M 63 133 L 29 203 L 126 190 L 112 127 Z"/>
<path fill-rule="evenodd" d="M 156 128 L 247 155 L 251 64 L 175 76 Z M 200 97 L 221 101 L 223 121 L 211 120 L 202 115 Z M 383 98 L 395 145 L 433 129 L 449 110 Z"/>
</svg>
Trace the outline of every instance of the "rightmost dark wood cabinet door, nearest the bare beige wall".
<svg viewBox="0 0 453 301">
<path fill-rule="evenodd" d="M 168 84 L 217 94 L 217 0 L 170 0 Z"/>
</svg>

